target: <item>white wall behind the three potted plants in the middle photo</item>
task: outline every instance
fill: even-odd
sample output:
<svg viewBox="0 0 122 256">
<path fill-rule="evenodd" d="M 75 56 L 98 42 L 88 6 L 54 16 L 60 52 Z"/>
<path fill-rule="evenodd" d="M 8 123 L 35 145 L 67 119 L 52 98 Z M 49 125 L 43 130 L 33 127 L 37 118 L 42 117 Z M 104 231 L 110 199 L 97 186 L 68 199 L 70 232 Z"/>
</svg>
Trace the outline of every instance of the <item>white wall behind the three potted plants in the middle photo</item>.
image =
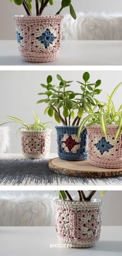
<svg viewBox="0 0 122 256">
<path fill-rule="evenodd" d="M 122 81 L 121 71 L 89 71 L 90 82 L 95 82 L 97 79 L 102 80 L 102 92 L 98 99 L 105 100 L 105 92 L 110 94 L 114 87 Z M 29 108 L 37 111 L 41 122 L 53 122 L 50 127 L 55 131 L 56 122 L 54 118 L 44 115 L 45 103 L 36 104 L 36 101 L 41 99 L 37 94 L 44 91 L 40 83 L 45 83 L 49 74 L 54 77 L 54 84 L 57 83 L 56 74 L 59 73 L 67 81 L 81 81 L 84 71 L 0 71 L 0 117 L 11 115 L 23 119 L 26 123 L 33 123 L 33 114 Z M 76 82 L 72 83 L 72 89 L 80 92 L 80 85 Z M 121 90 L 114 97 L 115 106 L 118 109 L 121 104 Z M 1 118 L 0 123 L 5 121 Z M 11 129 L 11 153 L 21 152 L 21 137 L 16 132 L 19 128 L 18 124 L 10 124 Z M 57 152 L 56 132 L 51 135 L 51 153 Z"/>
</svg>

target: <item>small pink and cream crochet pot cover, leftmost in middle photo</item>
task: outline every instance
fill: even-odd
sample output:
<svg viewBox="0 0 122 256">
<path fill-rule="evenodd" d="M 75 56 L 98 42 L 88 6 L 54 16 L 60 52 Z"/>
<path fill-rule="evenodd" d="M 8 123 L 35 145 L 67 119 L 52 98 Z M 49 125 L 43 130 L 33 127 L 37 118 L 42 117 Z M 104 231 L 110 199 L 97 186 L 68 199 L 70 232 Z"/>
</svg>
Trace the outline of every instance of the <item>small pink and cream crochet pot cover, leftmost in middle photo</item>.
<svg viewBox="0 0 122 256">
<path fill-rule="evenodd" d="M 50 133 L 50 129 L 42 131 L 21 131 L 23 155 L 30 159 L 49 158 Z"/>
</svg>

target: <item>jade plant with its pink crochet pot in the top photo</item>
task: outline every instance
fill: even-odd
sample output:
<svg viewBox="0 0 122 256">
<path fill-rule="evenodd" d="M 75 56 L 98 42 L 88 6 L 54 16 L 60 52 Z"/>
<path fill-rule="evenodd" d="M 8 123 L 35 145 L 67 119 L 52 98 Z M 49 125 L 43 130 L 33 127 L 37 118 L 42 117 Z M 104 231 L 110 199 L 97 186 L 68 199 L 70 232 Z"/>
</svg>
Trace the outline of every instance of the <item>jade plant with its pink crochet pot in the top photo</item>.
<svg viewBox="0 0 122 256">
<path fill-rule="evenodd" d="M 54 15 L 42 15 L 53 0 L 35 0 L 36 15 L 32 15 L 32 0 L 10 0 L 23 5 L 27 15 L 14 16 L 17 29 L 18 47 L 21 57 L 27 62 L 50 62 L 58 57 L 62 40 L 62 19 L 60 12 L 69 7 L 71 16 L 76 14 L 71 0 L 62 0 L 60 9 Z"/>
</svg>

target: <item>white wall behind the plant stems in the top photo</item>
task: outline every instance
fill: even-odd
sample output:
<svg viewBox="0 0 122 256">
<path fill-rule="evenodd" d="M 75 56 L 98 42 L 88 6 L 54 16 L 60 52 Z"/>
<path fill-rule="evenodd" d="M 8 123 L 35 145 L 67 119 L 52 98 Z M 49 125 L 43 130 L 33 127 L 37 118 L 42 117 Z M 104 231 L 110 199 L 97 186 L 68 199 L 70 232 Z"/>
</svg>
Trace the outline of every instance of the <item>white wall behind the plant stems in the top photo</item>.
<svg viewBox="0 0 122 256">
<path fill-rule="evenodd" d="M 11 4 L 9 0 L 1 1 L 0 8 L 0 39 L 15 39 L 16 31 L 14 28 L 14 22 L 12 21 L 12 17 L 14 14 L 25 14 L 23 6 L 18 7 L 15 4 Z M 55 0 L 55 5 L 53 7 L 48 7 L 44 13 L 56 13 L 56 11 L 60 7 L 61 0 Z M 35 1 L 33 0 L 33 3 Z M 75 11 L 83 11 L 83 12 L 122 12 L 122 2 L 121 0 L 72 0 L 72 4 L 74 6 Z M 33 4 L 34 6 L 34 4 Z M 68 12 L 66 8 L 62 13 Z M 35 9 L 33 11 L 35 13 Z"/>
</svg>

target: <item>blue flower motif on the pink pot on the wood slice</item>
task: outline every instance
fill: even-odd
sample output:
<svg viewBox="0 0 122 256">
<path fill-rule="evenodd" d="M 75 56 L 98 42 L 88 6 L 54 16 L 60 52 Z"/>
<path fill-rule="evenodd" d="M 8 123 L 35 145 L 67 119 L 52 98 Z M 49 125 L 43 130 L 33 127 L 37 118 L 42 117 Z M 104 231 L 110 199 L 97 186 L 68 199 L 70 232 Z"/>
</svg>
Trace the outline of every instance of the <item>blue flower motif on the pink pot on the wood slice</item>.
<svg viewBox="0 0 122 256">
<path fill-rule="evenodd" d="M 103 137 L 96 144 L 96 147 L 100 150 L 100 153 L 103 155 L 105 151 L 109 152 L 109 149 L 111 149 L 113 146 Z"/>
</svg>

